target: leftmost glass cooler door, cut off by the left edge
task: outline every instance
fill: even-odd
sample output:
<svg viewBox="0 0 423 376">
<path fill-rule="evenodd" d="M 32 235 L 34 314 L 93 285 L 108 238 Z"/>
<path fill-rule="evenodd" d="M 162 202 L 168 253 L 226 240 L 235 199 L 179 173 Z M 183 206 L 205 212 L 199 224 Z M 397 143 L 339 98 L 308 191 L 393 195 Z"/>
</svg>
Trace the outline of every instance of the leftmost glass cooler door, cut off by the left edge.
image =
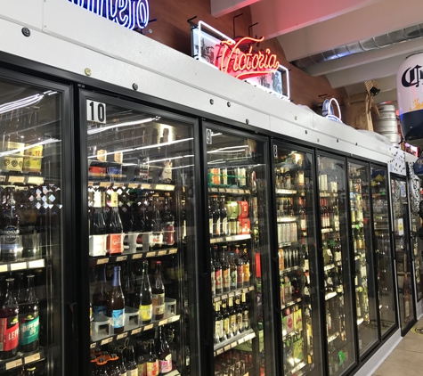
<svg viewBox="0 0 423 376">
<path fill-rule="evenodd" d="M 61 129 L 69 94 L 7 76 L 0 76 L 0 374 L 64 374 Z"/>
</svg>

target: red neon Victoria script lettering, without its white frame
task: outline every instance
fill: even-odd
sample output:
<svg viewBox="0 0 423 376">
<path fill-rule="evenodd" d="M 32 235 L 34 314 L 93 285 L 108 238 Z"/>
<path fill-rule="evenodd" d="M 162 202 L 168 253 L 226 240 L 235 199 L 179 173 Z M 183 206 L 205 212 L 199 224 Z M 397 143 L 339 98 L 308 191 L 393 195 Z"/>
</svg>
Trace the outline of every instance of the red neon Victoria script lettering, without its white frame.
<svg viewBox="0 0 423 376">
<path fill-rule="evenodd" d="M 263 76 L 278 70 L 280 65 L 278 58 L 275 53 L 271 53 L 269 48 L 266 48 L 264 52 L 253 52 L 252 45 L 263 42 L 263 40 L 264 37 L 259 39 L 242 37 L 235 42 L 223 41 L 219 48 L 219 50 L 223 49 L 220 62 L 219 59 L 216 59 L 217 68 L 241 79 Z M 244 51 L 241 51 L 242 45 L 247 47 Z M 217 55 L 219 54 L 220 51 Z"/>
</svg>

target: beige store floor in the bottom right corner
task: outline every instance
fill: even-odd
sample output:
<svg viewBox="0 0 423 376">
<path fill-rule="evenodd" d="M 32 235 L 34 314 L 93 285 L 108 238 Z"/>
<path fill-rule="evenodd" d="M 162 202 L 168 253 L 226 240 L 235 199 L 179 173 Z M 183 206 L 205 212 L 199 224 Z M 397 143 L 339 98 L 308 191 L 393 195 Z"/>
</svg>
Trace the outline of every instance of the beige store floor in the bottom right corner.
<svg viewBox="0 0 423 376">
<path fill-rule="evenodd" d="M 415 327 L 423 327 L 423 317 Z M 423 335 L 409 331 L 394 351 L 380 364 L 373 376 L 422 376 Z"/>
</svg>

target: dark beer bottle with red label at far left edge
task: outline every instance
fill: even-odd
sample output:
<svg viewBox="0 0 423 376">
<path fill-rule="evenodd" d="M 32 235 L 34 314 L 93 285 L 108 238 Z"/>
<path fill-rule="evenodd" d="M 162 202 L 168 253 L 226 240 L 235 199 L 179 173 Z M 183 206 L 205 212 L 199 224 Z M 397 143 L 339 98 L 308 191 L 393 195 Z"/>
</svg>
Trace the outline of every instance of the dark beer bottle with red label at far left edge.
<svg viewBox="0 0 423 376">
<path fill-rule="evenodd" d="M 13 278 L 6 279 L 4 303 L 0 307 L 0 359 L 10 359 L 18 354 L 19 344 L 19 306 L 12 294 Z"/>
</svg>

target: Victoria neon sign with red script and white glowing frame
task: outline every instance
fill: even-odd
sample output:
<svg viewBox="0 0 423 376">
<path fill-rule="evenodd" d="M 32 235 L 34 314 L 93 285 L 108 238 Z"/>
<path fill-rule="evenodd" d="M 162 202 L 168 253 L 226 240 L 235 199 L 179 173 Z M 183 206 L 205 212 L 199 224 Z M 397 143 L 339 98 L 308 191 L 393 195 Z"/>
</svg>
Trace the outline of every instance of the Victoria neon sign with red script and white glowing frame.
<svg viewBox="0 0 423 376">
<path fill-rule="evenodd" d="M 264 37 L 232 39 L 203 21 L 191 24 L 192 56 L 266 92 L 289 100 L 289 71 L 269 48 L 259 50 Z"/>
</svg>

